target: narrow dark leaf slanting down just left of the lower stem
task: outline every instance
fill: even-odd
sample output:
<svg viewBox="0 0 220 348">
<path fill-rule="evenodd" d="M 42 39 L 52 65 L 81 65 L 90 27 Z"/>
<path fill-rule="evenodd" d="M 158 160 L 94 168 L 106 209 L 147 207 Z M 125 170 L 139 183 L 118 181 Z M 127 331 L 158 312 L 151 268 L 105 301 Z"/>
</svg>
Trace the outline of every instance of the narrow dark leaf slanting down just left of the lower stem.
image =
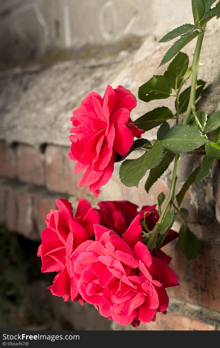
<svg viewBox="0 0 220 348">
<path fill-rule="evenodd" d="M 168 168 L 168 166 L 172 162 L 173 158 L 174 158 L 173 153 L 165 152 L 162 161 L 156 167 L 150 169 L 149 176 L 148 176 L 147 181 L 145 183 L 145 190 L 147 191 L 147 193 L 149 192 L 149 189 L 152 187 L 152 185 L 155 183 L 155 181 L 157 181 L 157 179 Z"/>
</svg>

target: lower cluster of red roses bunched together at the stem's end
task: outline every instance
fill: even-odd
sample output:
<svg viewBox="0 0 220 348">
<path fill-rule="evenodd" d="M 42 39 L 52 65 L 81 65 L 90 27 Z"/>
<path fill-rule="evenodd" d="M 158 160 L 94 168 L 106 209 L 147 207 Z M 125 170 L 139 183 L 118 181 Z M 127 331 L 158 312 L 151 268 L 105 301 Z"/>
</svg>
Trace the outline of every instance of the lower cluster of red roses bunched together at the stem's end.
<svg viewBox="0 0 220 348">
<path fill-rule="evenodd" d="M 156 205 L 138 212 L 128 201 L 104 201 L 97 209 L 80 198 L 74 216 L 68 200 L 56 204 L 38 251 L 42 272 L 58 272 L 48 287 L 52 294 L 94 304 L 121 325 L 137 326 L 154 320 L 158 311 L 165 313 L 165 288 L 178 285 L 178 278 L 168 266 L 171 258 L 160 249 L 150 253 L 142 239 L 141 221 L 153 229 Z M 176 237 L 170 230 L 162 245 Z"/>
</svg>

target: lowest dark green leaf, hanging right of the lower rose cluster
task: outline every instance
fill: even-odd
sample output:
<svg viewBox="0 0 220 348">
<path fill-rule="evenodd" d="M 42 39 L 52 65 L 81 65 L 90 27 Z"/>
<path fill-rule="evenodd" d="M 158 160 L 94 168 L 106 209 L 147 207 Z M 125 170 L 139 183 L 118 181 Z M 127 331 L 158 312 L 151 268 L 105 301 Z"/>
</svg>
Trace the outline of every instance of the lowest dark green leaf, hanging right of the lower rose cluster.
<svg viewBox="0 0 220 348">
<path fill-rule="evenodd" d="M 203 246 L 202 240 L 199 240 L 193 232 L 191 232 L 184 222 L 179 230 L 179 246 L 188 260 L 195 259 Z"/>
</svg>

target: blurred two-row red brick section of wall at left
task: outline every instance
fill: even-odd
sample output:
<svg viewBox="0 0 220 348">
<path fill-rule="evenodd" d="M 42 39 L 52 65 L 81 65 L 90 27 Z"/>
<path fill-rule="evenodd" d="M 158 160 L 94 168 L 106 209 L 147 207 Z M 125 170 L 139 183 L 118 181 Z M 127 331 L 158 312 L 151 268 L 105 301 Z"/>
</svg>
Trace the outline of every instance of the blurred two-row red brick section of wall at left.
<svg viewBox="0 0 220 348">
<path fill-rule="evenodd" d="M 0 142 L 0 223 L 32 240 L 40 240 L 55 199 L 71 199 L 79 177 L 67 147 L 43 149 Z M 73 206 L 76 199 L 72 197 Z"/>
</svg>

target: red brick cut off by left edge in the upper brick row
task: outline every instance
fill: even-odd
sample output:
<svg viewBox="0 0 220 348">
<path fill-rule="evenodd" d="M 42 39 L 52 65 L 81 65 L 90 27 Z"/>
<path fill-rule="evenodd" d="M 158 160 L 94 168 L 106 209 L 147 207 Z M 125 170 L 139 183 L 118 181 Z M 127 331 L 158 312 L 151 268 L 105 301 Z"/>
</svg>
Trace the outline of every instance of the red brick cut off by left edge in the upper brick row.
<svg viewBox="0 0 220 348">
<path fill-rule="evenodd" d="M 9 178 L 17 176 L 17 153 L 4 141 L 0 141 L 0 175 Z"/>
</svg>

